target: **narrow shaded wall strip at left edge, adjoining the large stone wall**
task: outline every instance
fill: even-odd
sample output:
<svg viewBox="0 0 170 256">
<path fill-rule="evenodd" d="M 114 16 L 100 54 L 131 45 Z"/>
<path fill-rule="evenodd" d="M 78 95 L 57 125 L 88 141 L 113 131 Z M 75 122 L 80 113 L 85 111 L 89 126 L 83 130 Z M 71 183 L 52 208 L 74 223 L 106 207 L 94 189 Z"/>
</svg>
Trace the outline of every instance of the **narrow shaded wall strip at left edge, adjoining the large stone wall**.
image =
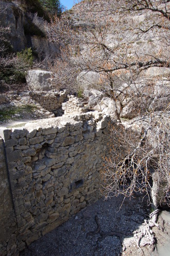
<svg viewBox="0 0 170 256">
<path fill-rule="evenodd" d="M 0 137 L 0 255 L 16 253 L 16 217 L 13 209 L 3 139 Z"/>
</svg>

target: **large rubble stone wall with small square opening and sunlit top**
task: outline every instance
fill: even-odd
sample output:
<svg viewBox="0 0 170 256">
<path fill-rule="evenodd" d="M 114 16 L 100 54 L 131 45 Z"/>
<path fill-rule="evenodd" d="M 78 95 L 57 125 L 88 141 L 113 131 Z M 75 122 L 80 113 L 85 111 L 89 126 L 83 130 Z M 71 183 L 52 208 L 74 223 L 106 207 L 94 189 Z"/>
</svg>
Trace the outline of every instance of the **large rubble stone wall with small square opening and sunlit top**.
<svg viewBox="0 0 170 256">
<path fill-rule="evenodd" d="M 94 111 L 1 131 L 18 222 L 18 250 L 99 198 L 103 157 L 109 151 L 108 122 L 107 116 Z M 9 228 L 10 221 L 5 223 Z"/>
</svg>

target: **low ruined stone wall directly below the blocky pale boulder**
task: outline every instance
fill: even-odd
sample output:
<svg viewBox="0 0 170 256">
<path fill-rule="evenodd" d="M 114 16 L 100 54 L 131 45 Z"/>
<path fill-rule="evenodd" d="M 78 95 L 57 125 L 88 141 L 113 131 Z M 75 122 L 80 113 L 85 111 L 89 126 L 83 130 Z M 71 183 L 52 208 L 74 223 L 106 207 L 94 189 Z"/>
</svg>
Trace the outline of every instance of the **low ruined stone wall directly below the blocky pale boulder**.
<svg viewBox="0 0 170 256">
<path fill-rule="evenodd" d="M 66 99 L 66 90 L 62 92 L 31 91 L 29 95 L 46 110 L 54 111 L 62 106 L 63 101 Z"/>
</svg>

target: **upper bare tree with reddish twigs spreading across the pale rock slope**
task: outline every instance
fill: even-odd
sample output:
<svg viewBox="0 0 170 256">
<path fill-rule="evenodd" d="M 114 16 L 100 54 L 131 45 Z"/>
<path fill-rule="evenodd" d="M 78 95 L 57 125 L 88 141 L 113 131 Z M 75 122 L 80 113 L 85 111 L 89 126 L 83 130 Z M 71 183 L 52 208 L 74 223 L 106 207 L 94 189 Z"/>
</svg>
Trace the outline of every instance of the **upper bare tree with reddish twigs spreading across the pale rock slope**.
<svg viewBox="0 0 170 256">
<path fill-rule="evenodd" d="M 137 8 L 143 1 L 137 2 L 139 6 L 134 6 L 131 1 L 84 1 L 74 7 L 73 17 L 66 12 L 48 26 L 49 40 L 58 41 L 65 47 L 64 51 L 61 49 L 61 61 L 55 70 L 56 79 L 62 77 L 65 85 L 77 88 L 79 73 L 98 73 L 99 81 L 93 87 L 118 104 L 118 115 L 128 102 L 122 102 L 122 99 L 129 97 L 127 88 L 117 88 L 120 77 L 121 83 L 126 82 L 130 87 L 144 70 L 169 67 L 167 3 L 158 1 L 153 7 L 158 11 L 154 11 L 147 6 Z M 163 16 L 160 16 L 160 2 L 165 9 Z M 131 13 L 134 12 L 144 12 L 143 20 L 140 16 L 133 17 Z M 155 22 L 161 24 L 159 28 L 153 25 Z M 69 66 L 73 72 L 64 68 Z"/>
</svg>

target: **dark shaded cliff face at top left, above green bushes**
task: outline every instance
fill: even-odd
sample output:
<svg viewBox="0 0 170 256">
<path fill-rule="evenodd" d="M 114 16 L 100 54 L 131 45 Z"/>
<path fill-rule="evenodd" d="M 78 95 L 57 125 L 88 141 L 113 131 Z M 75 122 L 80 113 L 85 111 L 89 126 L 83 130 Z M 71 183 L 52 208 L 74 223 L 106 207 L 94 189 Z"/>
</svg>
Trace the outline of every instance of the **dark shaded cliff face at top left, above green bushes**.
<svg viewBox="0 0 170 256">
<path fill-rule="evenodd" d="M 13 51 L 20 52 L 25 47 L 31 47 L 38 57 L 59 55 L 59 45 L 48 42 L 44 32 L 29 18 L 29 13 L 20 5 L 0 1 L 0 23 L 2 27 L 9 27 L 6 39 L 13 47 Z"/>
</svg>

